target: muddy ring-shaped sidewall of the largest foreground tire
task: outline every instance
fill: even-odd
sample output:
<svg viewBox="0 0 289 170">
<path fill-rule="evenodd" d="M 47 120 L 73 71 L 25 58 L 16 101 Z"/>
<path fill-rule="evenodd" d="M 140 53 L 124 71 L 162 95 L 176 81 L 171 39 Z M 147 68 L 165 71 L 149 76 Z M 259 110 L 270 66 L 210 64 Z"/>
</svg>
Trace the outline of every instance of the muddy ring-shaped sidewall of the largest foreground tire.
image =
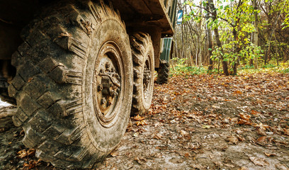
<svg viewBox="0 0 289 170">
<path fill-rule="evenodd" d="M 94 69 L 96 64 L 96 57 L 102 45 L 108 41 L 113 41 L 118 45 L 123 57 L 123 75 L 122 77 L 122 93 L 123 98 L 117 115 L 115 115 L 115 123 L 111 127 L 106 128 L 101 125 L 94 109 Z M 110 152 L 123 137 L 128 125 L 128 118 L 130 115 L 131 100 L 132 100 L 132 58 L 130 50 L 130 42 L 128 35 L 123 28 L 120 21 L 114 18 L 108 18 L 95 29 L 91 35 L 91 49 L 89 51 L 86 67 L 84 67 L 84 86 L 82 94 L 84 97 L 84 122 L 86 124 L 89 138 L 97 149 L 103 152 Z"/>
</svg>

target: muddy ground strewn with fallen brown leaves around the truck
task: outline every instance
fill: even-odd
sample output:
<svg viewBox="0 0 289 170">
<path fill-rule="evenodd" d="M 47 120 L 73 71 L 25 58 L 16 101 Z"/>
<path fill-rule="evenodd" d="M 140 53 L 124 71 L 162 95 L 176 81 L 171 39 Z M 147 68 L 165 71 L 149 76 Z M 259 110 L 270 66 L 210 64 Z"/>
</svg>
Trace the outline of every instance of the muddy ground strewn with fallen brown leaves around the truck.
<svg viewBox="0 0 289 170">
<path fill-rule="evenodd" d="M 56 169 L 21 138 L 0 118 L 0 169 Z M 176 76 L 96 169 L 289 169 L 288 144 L 289 74 Z"/>
</svg>

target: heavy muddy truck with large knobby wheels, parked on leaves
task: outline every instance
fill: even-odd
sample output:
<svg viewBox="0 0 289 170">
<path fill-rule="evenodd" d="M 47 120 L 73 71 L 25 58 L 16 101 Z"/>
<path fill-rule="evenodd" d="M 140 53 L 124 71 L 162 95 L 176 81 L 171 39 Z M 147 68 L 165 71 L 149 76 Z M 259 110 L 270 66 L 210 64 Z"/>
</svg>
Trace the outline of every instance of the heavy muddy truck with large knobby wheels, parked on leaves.
<svg viewBox="0 0 289 170">
<path fill-rule="evenodd" d="M 23 144 L 62 168 L 105 159 L 167 77 L 175 18 L 176 0 L 1 0 L 0 96 Z"/>
</svg>

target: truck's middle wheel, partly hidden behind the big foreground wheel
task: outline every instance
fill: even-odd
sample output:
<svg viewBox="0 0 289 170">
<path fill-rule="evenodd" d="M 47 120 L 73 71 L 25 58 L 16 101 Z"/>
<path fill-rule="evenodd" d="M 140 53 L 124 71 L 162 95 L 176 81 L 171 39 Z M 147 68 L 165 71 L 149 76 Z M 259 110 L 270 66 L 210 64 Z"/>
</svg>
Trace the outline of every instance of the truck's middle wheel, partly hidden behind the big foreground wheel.
<svg viewBox="0 0 289 170">
<path fill-rule="evenodd" d="M 142 115 L 152 103 L 154 89 L 154 47 L 147 33 L 130 35 L 133 60 L 133 96 L 131 115 Z"/>
</svg>

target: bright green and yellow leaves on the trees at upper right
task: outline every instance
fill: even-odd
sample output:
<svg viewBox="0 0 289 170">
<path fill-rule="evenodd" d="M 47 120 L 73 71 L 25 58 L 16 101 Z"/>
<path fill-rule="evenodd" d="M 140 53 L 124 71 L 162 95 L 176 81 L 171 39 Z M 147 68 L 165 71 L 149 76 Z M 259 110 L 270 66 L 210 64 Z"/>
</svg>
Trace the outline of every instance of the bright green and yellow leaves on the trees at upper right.
<svg viewBox="0 0 289 170">
<path fill-rule="evenodd" d="M 283 29 L 289 28 L 289 0 L 261 0 L 257 3 L 259 4 L 257 8 L 254 8 L 253 1 L 251 0 L 214 0 L 213 3 L 217 12 L 217 16 L 215 17 L 212 17 L 212 11 L 209 12 L 209 16 L 205 15 L 207 11 L 204 10 L 204 8 L 208 5 L 207 2 L 207 0 L 185 1 L 183 6 L 185 6 L 188 13 L 184 16 L 184 21 L 190 21 L 188 24 L 196 24 L 196 26 L 201 26 L 201 24 L 198 25 L 198 23 L 205 21 L 206 24 L 203 25 L 208 26 L 210 30 L 217 28 L 220 35 L 220 41 L 222 42 L 221 47 L 217 47 L 214 43 L 212 49 L 205 49 L 212 51 L 211 59 L 215 61 L 214 64 L 225 61 L 228 63 L 228 69 L 232 69 L 235 64 L 248 64 L 250 60 L 254 60 L 254 62 L 257 60 L 260 67 L 261 63 L 264 61 L 264 50 L 268 51 L 269 43 L 271 49 L 273 49 L 269 51 L 270 60 L 283 60 L 284 52 L 280 51 L 288 49 L 288 41 L 282 42 L 280 38 L 278 39 L 276 33 L 273 35 L 273 40 L 268 40 L 268 34 L 271 33 L 274 22 L 278 19 L 278 13 L 281 13 L 282 15 L 277 24 L 282 23 Z M 271 6 L 271 8 L 266 9 L 266 11 L 261 11 L 261 6 Z M 267 16 L 265 16 L 264 13 L 266 13 Z M 258 21 L 258 26 L 256 27 L 265 39 L 261 40 L 259 36 L 259 40 L 265 42 L 259 43 L 261 46 L 256 46 L 252 43 L 252 40 L 254 40 L 254 38 L 251 37 L 253 35 L 252 33 L 256 33 L 256 27 L 254 25 L 256 19 L 255 15 Z M 266 19 L 266 17 L 272 18 L 271 23 L 268 22 L 269 20 Z M 204 19 L 202 20 L 202 18 Z M 191 28 L 189 30 L 191 30 Z M 198 32 L 198 29 L 193 30 L 195 30 L 196 33 Z M 201 33 L 197 34 L 198 36 L 201 35 Z M 191 36 L 193 37 L 194 35 Z M 198 43 L 199 42 L 195 40 L 193 45 Z M 197 47 L 198 46 L 196 45 L 196 48 Z M 266 65 L 262 68 L 266 69 L 273 67 Z"/>
</svg>

